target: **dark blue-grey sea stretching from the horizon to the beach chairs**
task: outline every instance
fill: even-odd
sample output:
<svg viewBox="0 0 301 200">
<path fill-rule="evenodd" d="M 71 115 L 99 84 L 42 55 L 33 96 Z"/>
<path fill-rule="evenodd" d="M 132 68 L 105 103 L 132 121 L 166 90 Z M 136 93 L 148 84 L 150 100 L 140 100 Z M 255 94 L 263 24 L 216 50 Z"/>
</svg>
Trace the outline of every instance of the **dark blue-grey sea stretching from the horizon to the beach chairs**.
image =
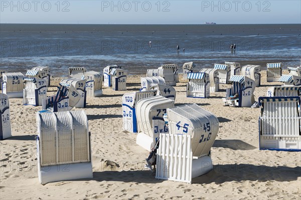
<svg viewBox="0 0 301 200">
<path fill-rule="evenodd" d="M 117 64 L 142 74 L 189 61 L 198 68 L 237 61 L 264 69 L 267 62 L 297 66 L 300 58 L 300 24 L 0 24 L 0 69 L 6 71 L 47 65 L 52 75 L 67 76 L 68 67 L 102 71 Z"/>
</svg>

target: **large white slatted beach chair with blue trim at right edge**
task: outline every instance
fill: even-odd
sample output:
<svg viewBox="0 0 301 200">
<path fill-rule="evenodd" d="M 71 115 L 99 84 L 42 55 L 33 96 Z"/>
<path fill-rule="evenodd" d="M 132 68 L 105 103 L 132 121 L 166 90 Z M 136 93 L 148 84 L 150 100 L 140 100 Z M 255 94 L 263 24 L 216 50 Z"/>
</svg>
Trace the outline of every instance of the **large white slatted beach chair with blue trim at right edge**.
<svg viewBox="0 0 301 200">
<path fill-rule="evenodd" d="M 299 96 L 259 97 L 259 148 L 301 150 Z"/>
</svg>

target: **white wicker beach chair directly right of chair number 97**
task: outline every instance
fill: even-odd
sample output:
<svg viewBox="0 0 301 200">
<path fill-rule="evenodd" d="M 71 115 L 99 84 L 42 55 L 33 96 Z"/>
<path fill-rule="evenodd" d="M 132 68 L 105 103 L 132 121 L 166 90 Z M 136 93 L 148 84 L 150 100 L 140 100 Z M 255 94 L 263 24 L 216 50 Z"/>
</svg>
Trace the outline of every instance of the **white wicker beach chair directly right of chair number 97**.
<svg viewBox="0 0 301 200">
<path fill-rule="evenodd" d="M 101 96 L 103 74 L 96 71 L 87 71 L 84 72 L 84 77 L 86 79 L 87 96 Z"/>
</svg>

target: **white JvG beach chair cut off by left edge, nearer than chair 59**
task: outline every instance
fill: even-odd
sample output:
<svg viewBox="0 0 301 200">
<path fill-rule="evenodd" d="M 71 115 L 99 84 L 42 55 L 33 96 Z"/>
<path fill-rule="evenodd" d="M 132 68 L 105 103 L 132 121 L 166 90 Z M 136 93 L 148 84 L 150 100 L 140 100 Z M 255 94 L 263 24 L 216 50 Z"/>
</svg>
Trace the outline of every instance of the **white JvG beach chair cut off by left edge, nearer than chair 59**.
<svg viewBox="0 0 301 200">
<path fill-rule="evenodd" d="M 8 95 L 0 93 L 0 140 L 12 136 L 10 102 Z"/>
</svg>

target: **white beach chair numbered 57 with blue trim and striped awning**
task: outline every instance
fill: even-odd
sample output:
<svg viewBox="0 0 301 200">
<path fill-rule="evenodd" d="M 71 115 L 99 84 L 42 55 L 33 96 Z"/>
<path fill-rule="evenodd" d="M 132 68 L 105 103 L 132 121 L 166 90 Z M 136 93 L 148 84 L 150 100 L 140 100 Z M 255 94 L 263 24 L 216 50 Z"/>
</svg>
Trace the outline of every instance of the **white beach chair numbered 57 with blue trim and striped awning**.
<svg viewBox="0 0 301 200">
<path fill-rule="evenodd" d="M 42 105 L 43 99 L 47 98 L 47 80 L 43 78 L 24 78 L 23 89 L 24 105 Z"/>
</svg>

